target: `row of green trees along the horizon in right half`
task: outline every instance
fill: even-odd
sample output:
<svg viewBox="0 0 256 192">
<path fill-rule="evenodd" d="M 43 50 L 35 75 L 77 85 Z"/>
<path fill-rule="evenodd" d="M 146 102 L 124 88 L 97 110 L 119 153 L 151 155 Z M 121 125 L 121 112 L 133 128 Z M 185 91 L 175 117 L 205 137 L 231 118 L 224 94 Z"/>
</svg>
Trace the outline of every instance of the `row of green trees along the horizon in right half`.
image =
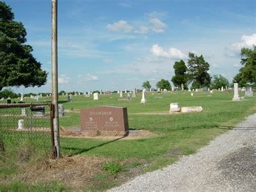
<svg viewBox="0 0 256 192">
<path fill-rule="evenodd" d="M 174 76 L 171 81 L 176 88 L 181 88 L 182 84 L 184 89 L 191 89 L 208 87 L 211 89 L 218 89 L 221 86 L 233 86 L 238 83 L 240 87 L 243 86 L 256 86 L 256 46 L 253 45 L 252 49 L 243 47 L 241 49 L 241 65 L 239 73 L 233 78 L 231 84 L 228 79 L 222 75 L 209 74 L 210 65 L 205 61 L 204 56 L 196 56 L 195 53 L 189 52 L 188 64 L 183 60 L 175 61 Z M 166 79 L 161 79 L 156 84 L 157 88 L 171 90 L 172 86 Z M 142 84 L 143 88 L 151 88 L 149 81 Z"/>
</svg>

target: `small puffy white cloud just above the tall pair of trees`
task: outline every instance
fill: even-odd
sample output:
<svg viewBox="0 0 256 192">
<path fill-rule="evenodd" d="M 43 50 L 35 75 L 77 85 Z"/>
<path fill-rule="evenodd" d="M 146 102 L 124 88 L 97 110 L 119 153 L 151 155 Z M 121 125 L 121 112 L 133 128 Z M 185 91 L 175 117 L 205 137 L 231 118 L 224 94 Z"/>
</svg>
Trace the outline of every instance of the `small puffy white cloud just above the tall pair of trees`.
<svg viewBox="0 0 256 192">
<path fill-rule="evenodd" d="M 179 49 L 176 49 L 174 47 L 171 47 L 168 52 L 164 51 L 162 47 L 159 47 L 157 44 L 152 45 L 150 48 L 150 52 L 154 56 L 160 57 L 160 58 L 169 58 L 169 59 L 184 59 L 186 58 L 186 54 L 181 52 Z"/>
</svg>

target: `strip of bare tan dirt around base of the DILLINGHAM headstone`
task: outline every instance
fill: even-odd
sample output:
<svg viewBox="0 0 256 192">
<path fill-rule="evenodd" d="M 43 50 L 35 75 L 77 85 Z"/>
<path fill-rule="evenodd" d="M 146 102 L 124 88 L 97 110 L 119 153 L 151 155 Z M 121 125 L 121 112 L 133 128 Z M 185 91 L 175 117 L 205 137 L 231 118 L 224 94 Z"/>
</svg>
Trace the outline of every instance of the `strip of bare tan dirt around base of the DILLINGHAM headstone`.
<svg viewBox="0 0 256 192">
<path fill-rule="evenodd" d="M 127 136 L 88 136 L 83 132 L 75 132 L 72 130 L 62 130 L 60 131 L 61 136 L 70 137 L 70 138 L 88 138 L 88 139 L 97 139 L 97 140 L 138 140 L 141 138 L 150 138 L 154 136 L 159 136 L 155 132 L 150 132 L 147 130 L 130 130 Z"/>
</svg>

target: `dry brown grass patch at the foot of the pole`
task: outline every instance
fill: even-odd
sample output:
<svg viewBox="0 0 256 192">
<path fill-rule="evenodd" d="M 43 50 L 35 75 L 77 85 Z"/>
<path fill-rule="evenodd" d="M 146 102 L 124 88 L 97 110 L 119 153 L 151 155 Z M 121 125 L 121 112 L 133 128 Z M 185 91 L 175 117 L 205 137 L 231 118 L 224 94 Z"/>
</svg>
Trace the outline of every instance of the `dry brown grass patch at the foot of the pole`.
<svg viewBox="0 0 256 192">
<path fill-rule="evenodd" d="M 51 182 L 56 180 L 81 189 L 95 182 L 95 175 L 104 173 L 102 164 L 111 161 L 104 157 L 63 157 L 58 160 L 47 159 L 34 166 L 25 166 L 16 177 L 24 182 Z"/>
</svg>

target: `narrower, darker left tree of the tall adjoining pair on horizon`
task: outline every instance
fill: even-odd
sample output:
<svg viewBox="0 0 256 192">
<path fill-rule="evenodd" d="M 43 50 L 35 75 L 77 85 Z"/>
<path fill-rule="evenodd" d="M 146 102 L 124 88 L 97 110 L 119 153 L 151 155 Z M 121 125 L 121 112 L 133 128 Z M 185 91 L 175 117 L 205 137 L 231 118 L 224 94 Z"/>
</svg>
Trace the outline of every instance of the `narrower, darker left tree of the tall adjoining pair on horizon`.
<svg viewBox="0 0 256 192">
<path fill-rule="evenodd" d="M 181 84 L 184 85 L 184 88 L 188 88 L 188 75 L 186 74 L 188 68 L 185 65 L 183 60 L 176 61 L 173 65 L 175 76 L 172 77 L 172 83 L 175 86 L 181 87 Z"/>
</svg>

